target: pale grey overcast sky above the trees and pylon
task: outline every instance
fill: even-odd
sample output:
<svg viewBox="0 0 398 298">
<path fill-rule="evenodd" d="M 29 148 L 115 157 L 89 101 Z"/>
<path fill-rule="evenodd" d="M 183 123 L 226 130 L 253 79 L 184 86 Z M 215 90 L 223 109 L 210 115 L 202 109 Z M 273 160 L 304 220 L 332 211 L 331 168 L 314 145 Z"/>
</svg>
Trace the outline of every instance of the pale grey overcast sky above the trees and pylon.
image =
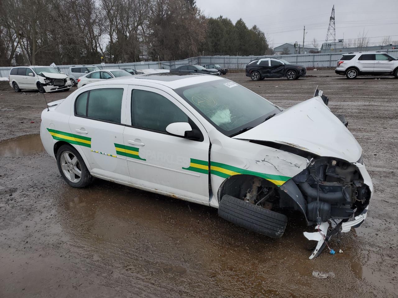
<svg viewBox="0 0 398 298">
<path fill-rule="evenodd" d="M 258 25 L 273 47 L 295 41 L 302 44 L 304 25 L 304 44 L 312 45 L 315 38 L 320 46 L 333 4 L 336 39 L 357 38 L 365 29 L 371 43 L 381 42 L 384 36 L 398 41 L 398 0 L 196 0 L 196 4 L 206 16 L 222 15 L 233 23 L 242 18 L 249 28 Z"/>
</svg>

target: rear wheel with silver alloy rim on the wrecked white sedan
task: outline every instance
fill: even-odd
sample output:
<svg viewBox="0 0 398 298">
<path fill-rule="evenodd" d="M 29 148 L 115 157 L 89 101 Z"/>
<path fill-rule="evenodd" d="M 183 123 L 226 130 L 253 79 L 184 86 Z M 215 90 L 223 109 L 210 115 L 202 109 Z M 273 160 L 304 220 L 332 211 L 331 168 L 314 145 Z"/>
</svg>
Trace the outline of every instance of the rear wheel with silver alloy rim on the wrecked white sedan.
<svg viewBox="0 0 398 298">
<path fill-rule="evenodd" d="M 71 145 L 59 148 L 57 166 L 65 182 L 74 188 L 84 188 L 94 181 L 81 155 Z"/>
</svg>

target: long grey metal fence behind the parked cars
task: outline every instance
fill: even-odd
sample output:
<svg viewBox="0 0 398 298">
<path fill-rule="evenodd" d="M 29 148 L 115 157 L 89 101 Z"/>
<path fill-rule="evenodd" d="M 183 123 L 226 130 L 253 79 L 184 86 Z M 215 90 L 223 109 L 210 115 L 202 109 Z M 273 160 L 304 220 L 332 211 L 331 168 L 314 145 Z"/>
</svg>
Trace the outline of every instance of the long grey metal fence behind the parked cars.
<svg viewBox="0 0 398 298">
<path fill-rule="evenodd" d="M 387 52 L 394 58 L 398 58 L 398 49 L 381 50 Z M 301 64 L 306 67 L 335 67 L 336 61 L 341 58 L 343 53 L 321 53 L 321 54 L 290 54 L 290 55 L 267 55 L 267 56 L 198 56 L 177 61 L 151 61 L 151 62 L 131 62 L 118 64 L 94 64 L 103 69 L 109 68 L 134 68 L 136 70 L 143 70 L 148 68 L 153 69 L 167 69 L 176 68 L 181 65 L 205 65 L 205 64 L 219 64 L 221 67 L 244 70 L 246 65 L 256 58 L 281 58 L 287 62 L 294 64 Z M 61 72 L 69 74 L 69 67 L 73 65 L 60 65 Z M 0 67 L 0 77 L 8 77 L 12 67 Z"/>
</svg>

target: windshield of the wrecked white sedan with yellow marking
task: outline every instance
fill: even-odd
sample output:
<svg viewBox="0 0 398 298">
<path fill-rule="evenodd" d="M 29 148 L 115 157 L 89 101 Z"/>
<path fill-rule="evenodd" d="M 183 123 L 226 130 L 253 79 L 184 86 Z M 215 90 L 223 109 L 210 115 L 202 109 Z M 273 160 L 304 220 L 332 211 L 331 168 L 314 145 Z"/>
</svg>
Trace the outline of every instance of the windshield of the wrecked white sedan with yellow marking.
<svg viewBox="0 0 398 298">
<path fill-rule="evenodd" d="M 228 136 L 253 128 L 271 114 L 280 112 L 266 99 L 226 79 L 186 86 L 175 91 Z"/>
</svg>

